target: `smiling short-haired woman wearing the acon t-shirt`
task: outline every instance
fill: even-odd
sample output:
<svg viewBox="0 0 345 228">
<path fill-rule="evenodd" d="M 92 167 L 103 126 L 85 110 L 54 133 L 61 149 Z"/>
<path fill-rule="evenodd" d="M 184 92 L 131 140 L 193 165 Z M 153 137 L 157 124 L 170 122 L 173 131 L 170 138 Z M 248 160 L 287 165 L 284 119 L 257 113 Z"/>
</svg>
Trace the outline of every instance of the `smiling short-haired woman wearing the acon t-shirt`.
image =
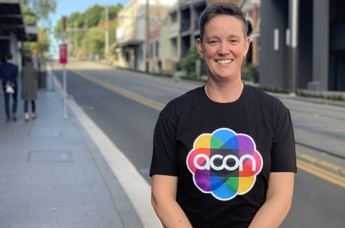
<svg viewBox="0 0 345 228">
<path fill-rule="evenodd" d="M 215 3 L 197 48 L 208 84 L 169 102 L 154 131 L 152 205 L 164 227 L 278 227 L 296 172 L 290 112 L 241 82 L 243 13 Z"/>
</svg>

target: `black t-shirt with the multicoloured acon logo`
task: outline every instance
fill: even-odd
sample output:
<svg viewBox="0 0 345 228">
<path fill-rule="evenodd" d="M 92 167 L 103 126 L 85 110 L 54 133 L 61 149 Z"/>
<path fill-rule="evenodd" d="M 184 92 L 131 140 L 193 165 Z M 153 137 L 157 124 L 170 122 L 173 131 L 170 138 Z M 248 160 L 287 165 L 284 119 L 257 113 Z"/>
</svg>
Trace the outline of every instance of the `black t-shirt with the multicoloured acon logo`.
<svg viewBox="0 0 345 228">
<path fill-rule="evenodd" d="M 230 103 L 204 86 L 170 101 L 153 136 L 150 175 L 178 176 L 177 202 L 194 228 L 248 227 L 270 172 L 296 172 L 289 109 L 244 86 Z"/>
</svg>

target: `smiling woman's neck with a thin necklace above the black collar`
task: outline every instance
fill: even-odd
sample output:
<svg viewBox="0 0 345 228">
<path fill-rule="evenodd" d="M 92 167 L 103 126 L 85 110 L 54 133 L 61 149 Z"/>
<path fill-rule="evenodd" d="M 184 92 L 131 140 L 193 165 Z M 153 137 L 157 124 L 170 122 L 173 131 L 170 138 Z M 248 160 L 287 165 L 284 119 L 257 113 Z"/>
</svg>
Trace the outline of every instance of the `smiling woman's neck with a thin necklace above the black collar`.
<svg viewBox="0 0 345 228">
<path fill-rule="evenodd" d="M 219 103 L 229 103 L 237 100 L 243 91 L 243 83 L 240 77 L 235 81 L 219 82 L 208 79 L 208 84 L 205 86 L 205 93 L 208 97 Z"/>
</svg>

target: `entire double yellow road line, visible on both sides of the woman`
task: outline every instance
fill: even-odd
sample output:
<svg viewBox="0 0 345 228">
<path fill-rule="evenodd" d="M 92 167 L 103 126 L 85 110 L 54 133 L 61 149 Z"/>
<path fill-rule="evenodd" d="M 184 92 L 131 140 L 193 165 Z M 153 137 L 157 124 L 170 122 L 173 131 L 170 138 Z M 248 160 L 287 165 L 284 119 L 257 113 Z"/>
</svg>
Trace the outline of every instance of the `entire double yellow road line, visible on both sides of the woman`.
<svg viewBox="0 0 345 228">
<path fill-rule="evenodd" d="M 152 99 L 148 99 L 146 97 L 143 97 L 143 96 L 140 96 L 140 95 L 137 95 L 137 94 L 134 94 L 134 93 L 131 93 L 127 90 L 124 90 L 124 89 L 121 89 L 117 86 L 114 86 L 114 85 L 111 85 L 111 84 L 108 84 L 108 83 L 105 83 L 105 82 L 102 82 L 98 79 L 95 79 L 94 77 L 90 76 L 90 75 L 87 75 L 85 73 L 82 73 L 78 70 L 75 70 L 73 67 L 71 66 L 66 66 L 66 68 L 68 70 L 71 70 L 73 71 L 74 73 L 78 74 L 80 77 L 96 84 L 96 85 L 99 85 L 103 88 L 106 88 L 114 93 L 117 93 L 123 97 L 126 97 L 130 100 L 133 100 L 133 101 L 136 101 L 136 102 L 139 102 L 143 105 L 146 105 L 148 107 L 151 107 L 153 109 L 156 109 L 158 111 L 161 111 L 165 104 L 163 103 L 160 103 L 160 102 L 157 102 L 155 100 L 152 100 Z M 297 161 L 297 167 L 303 171 L 306 171 L 310 174 L 313 174 L 315 176 L 318 176 L 324 180 L 327 180 L 329 182 L 332 182 L 334 184 L 337 184 L 341 187 L 345 187 L 345 178 L 342 177 L 342 176 L 339 176 L 335 173 L 332 173 L 326 169 L 323 169 L 323 168 L 320 168 L 318 166 L 315 166 L 315 165 L 312 165 L 310 163 L 307 163 L 307 162 L 304 162 L 302 160 L 299 160 L 299 159 L 296 159 Z"/>
</svg>

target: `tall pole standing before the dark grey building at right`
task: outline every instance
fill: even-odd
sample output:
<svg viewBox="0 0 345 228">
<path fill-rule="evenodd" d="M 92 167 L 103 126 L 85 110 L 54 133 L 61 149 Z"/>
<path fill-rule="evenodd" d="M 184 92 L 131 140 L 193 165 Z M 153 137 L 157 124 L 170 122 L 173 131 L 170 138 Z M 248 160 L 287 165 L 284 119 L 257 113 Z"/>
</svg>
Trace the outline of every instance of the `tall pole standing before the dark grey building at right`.
<svg viewBox="0 0 345 228">
<path fill-rule="evenodd" d="M 299 0 L 290 0 L 290 24 L 291 24 L 291 48 L 290 48 L 290 95 L 295 96 L 298 88 L 298 18 L 299 18 Z"/>
</svg>

